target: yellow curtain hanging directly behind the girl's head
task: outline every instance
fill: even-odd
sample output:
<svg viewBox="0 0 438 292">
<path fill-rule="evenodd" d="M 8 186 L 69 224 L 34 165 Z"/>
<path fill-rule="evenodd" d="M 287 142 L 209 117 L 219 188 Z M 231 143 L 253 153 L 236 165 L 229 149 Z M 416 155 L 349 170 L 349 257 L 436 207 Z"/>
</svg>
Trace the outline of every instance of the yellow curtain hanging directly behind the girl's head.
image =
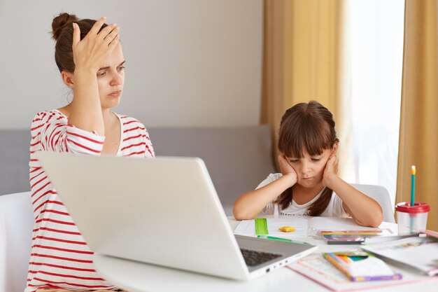
<svg viewBox="0 0 438 292">
<path fill-rule="evenodd" d="M 353 174 L 348 107 L 348 50 L 344 0 L 265 0 L 261 123 L 271 126 L 274 149 L 281 116 L 316 99 L 330 109 L 341 141 L 341 176 Z M 274 150 L 276 161 L 277 150 Z M 349 166 L 348 166 L 349 165 Z M 343 171 L 343 172 L 342 172 Z"/>
</svg>

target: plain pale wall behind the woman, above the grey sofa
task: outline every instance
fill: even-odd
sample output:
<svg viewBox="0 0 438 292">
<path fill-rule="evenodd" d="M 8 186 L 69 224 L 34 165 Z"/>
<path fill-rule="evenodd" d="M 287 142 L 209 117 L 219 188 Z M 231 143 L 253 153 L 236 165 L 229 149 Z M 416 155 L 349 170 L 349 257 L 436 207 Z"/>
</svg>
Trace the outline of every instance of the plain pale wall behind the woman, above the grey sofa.
<svg viewBox="0 0 438 292">
<path fill-rule="evenodd" d="M 25 3 L 23 3 L 25 2 Z M 50 39 L 61 11 L 121 27 L 126 81 L 115 109 L 146 127 L 257 125 L 262 0 L 0 1 L 0 128 L 67 102 Z"/>
</svg>

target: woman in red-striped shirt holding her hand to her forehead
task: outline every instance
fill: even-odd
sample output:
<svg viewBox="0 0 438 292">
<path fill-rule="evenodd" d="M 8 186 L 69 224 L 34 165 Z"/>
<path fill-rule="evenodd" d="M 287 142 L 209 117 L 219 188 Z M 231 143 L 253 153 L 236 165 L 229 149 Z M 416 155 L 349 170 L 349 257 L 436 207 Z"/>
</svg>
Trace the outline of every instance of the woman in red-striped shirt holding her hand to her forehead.
<svg viewBox="0 0 438 292">
<path fill-rule="evenodd" d="M 94 269 L 92 251 L 35 153 L 154 156 L 144 125 L 111 111 L 122 96 L 125 57 L 119 27 L 106 25 L 105 20 L 78 20 L 62 13 L 52 22 L 55 61 L 62 80 L 73 91 L 73 100 L 60 109 L 37 113 L 31 125 L 29 167 L 35 226 L 26 292 L 115 289 Z"/>
</svg>

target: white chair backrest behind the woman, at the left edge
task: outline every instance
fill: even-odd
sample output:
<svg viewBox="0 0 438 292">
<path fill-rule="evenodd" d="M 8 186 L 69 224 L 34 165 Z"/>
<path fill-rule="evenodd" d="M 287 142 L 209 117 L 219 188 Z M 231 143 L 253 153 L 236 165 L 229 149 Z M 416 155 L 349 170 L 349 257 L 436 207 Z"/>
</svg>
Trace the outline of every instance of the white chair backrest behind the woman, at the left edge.
<svg viewBox="0 0 438 292">
<path fill-rule="evenodd" d="M 30 192 L 0 196 L 0 292 L 26 288 L 34 212 Z"/>
</svg>

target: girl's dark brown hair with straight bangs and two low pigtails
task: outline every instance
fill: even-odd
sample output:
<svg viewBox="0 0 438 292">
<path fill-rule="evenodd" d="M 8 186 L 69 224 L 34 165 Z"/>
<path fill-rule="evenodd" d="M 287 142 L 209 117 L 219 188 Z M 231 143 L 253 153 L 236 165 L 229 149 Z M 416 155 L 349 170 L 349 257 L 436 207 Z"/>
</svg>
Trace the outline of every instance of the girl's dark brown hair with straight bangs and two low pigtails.
<svg viewBox="0 0 438 292">
<path fill-rule="evenodd" d="M 333 115 L 316 101 L 295 104 L 281 118 L 278 132 L 278 150 L 286 157 L 302 158 L 303 150 L 309 155 L 320 155 L 339 141 L 334 129 Z M 309 207 L 309 216 L 318 216 L 327 208 L 332 190 L 325 188 L 323 194 Z M 292 202 L 292 188 L 285 190 L 275 201 L 281 209 Z"/>
</svg>

